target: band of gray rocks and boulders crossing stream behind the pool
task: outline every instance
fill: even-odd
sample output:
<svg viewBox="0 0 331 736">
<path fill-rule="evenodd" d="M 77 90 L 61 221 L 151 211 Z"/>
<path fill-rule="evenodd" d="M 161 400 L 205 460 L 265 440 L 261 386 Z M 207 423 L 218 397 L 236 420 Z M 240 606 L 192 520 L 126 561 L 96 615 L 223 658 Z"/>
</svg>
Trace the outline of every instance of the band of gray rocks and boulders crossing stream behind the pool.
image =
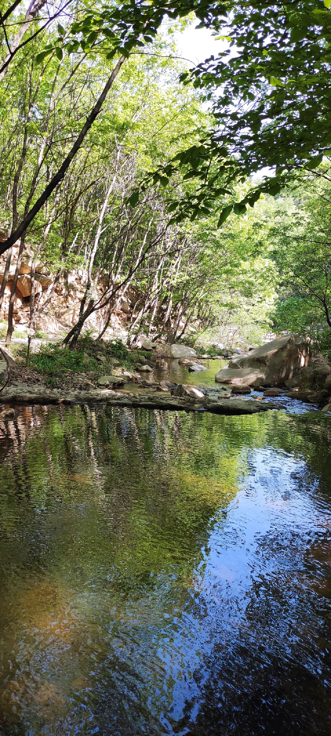
<svg viewBox="0 0 331 736">
<path fill-rule="evenodd" d="M 155 353 L 158 352 L 155 350 Z M 3 350 L 1 353 L 4 357 Z M 183 345 L 165 346 L 161 355 L 179 358 L 179 364 L 193 371 L 205 369 L 203 364 L 198 362 L 199 358 L 196 358 L 195 351 Z M 13 358 L 7 355 L 6 360 L 15 366 Z M 103 356 L 100 360 L 106 362 Z M 152 371 L 154 361 L 143 358 L 143 363 L 145 361 L 146 364 L 137 366 L 139 371 Z M 7 368 L 6 364 L 4 368 Z M 5 370 L 2 371 L 2 374 L 2 378 L 6 378 Z M 132 393 L 125 389 L 128 381 L 138 383 L 138 392 Z M 232 355 L 229 365 L 216 374 L 216 383 L 223 383 L 223 389 L 225 389 L 225 392 L 217 399 L 208 396 L 205 389 L 202 392 L 196 386 L 183 383 L 177 385 L 167 380 L 151 383 L 144 381 L 139 373 L 131 375 L 124 370 L 123 375 L 99 376 L 98 383 L 99 388 L 90 384 L 88 390 L 86 388 L 82 390 L 82 386 L 80 390 L 65 390 L 13 383 L 1 389 L 0 401 L 16 405 L 23 403 L 106 403 L 113 406 L 161 408 L 173 411 L 255 414 L 260 411 L 268 411 L 268 409 L 284 408 L 266 399 L 285 394 L 290 399 L 318 405 L 322 411 L 331 411 L 330 366 L 322 356 L 315 356 L 312 359 L 310 345 L 296 335 L 287 335 L 273 340 L 250 350 L 248 355 L 238 354 L 235 357 Z M 231 393 L 226 393 L 227 386 L 231 387 Z M 236 395 L 250 394 L 252 389 L 262 391 L 263 396 L 242 400 Z M 4 411 L 12 410 L 5 409 Z"/>
</svg>

